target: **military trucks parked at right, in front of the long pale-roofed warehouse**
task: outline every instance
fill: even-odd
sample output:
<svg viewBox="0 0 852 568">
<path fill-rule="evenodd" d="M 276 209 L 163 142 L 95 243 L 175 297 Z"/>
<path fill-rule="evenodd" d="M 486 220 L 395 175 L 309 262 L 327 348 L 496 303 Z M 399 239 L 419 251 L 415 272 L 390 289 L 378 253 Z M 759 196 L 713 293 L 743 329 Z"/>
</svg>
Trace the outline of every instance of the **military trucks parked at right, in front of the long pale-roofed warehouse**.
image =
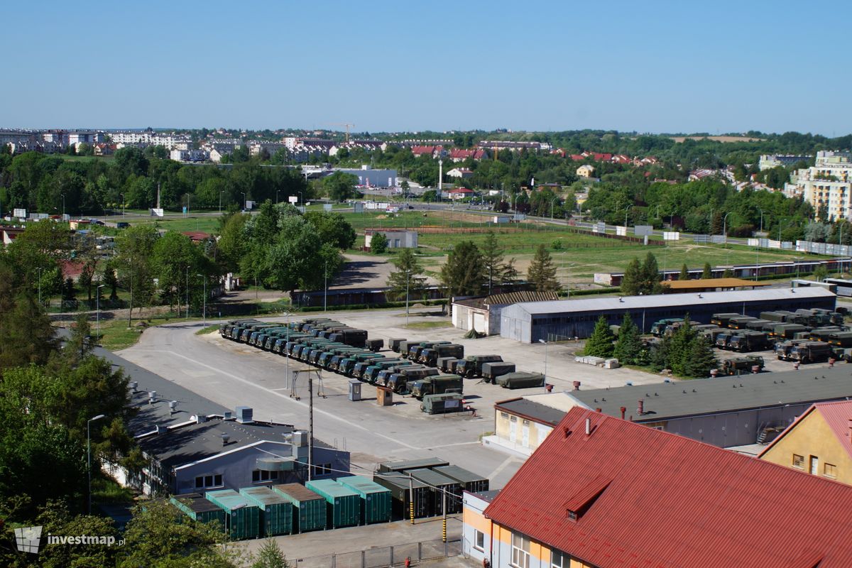
<svg viewBox="0 0 852 568">
<path fill-rule="evenodd" d="M 773 350 L 778 359 L 822 363 L 829 359 L 852 362 L 852 330 L 843 325 L 842 312 L 813 308 L 795 312 L 762 312 L 758 318 L 739 313 L 714 313 L 710 324 L 692 322 L 695 330 L 719 349 L 738 353 Z M 682 318 L 654 322 L 654 336 L 671 336 Z M 743 359 L 743 366 L 746 359 Z M 759 358 L 751 358 L 759 359 Z M 763 360 L 760 361 L 763 367 Z M 723 368 L 723 371 L 728 371 Z M 732 369 L 738 370 L 738 369 Z"/>
</svg>

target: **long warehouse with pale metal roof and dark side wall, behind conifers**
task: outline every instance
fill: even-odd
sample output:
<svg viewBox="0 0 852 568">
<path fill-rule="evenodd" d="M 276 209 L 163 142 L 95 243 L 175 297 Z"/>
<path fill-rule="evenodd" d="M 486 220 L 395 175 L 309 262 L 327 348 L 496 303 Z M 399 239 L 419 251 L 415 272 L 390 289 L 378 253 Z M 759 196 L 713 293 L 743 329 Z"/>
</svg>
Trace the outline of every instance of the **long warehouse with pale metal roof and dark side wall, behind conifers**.
<svg viewBox="0 0 852 568">
<path fill-rule="evenodd" d="M 501 310 L 500 336 L 527 343 L 584 338 L 591 335 L 601 316 L 607 318 L 608 324 L 618 325 L 625 313 L 630 313 L 642 333 L 648 333 L 651 325 L 663 318 L 689 315 L 694 321 L 709 324 L 714 313 L 757 317 L 772 310 L 815 307 L 833 310 L 836 300 L 836 295 L 822 287 L 805 287 L 525 301 Z"/>
</svg>

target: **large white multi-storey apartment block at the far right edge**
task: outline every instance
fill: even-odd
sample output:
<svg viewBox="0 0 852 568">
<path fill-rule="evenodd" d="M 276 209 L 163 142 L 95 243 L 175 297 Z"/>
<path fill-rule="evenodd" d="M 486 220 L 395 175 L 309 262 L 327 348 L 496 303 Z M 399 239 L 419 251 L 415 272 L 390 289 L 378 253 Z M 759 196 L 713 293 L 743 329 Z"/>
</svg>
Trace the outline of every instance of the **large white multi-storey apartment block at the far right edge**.
<svg viewBox="0 0 852 568">
<path fill-rule="evenodd" d="M 784 186 L 787 196 L 801 195 L 822 221 L 852 218 L 852 152 L 816 152 L 816 165 L 799 169 Z"/>
</svg>

